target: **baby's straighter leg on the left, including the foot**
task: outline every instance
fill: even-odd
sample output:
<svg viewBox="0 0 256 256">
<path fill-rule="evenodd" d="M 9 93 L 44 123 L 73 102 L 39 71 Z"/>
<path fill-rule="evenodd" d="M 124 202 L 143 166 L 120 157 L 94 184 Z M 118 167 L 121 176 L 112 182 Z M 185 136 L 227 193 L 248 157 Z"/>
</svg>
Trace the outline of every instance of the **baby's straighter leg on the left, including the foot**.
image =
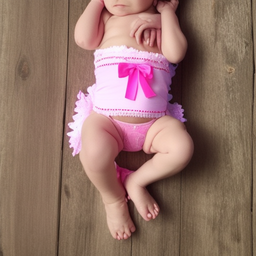
<svg viewBox="0 0 256 256">
<path fill-rule="evenodd" d="M 79 153 L 84 170 L 102 196 L 108 228 L 116 239 L 127 239 L 135 226 L 125 201 L 125 189 L 117 180 L 114 159 L 122 140 L 112 122 L 92 112 L 84 121 Z"/>
</svg>

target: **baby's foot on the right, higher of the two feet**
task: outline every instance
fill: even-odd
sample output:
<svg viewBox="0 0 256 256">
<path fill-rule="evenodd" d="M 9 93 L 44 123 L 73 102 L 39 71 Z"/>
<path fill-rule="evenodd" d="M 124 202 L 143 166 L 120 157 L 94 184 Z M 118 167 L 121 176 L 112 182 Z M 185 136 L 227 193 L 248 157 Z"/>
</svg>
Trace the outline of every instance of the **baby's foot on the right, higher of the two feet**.
<svg viewBox="0 0 256 256">
<path fill-rule="evenodd" d="M 124 180 L 124 187 L 138 211 L 145 220 L 156 218 L 159 214 L 159 207 L 154 198 L 148 193 L 145 187 L 138 185 L 130 175 Z"/>
</svg>

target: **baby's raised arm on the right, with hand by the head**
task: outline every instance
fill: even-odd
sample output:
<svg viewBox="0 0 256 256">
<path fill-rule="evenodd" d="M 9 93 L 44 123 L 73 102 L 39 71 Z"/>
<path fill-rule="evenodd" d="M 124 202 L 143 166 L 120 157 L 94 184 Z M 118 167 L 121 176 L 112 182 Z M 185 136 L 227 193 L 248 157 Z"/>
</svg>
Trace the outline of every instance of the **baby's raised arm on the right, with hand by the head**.
<svg viewBox="0 0 256 256">
<path fill-rule="evenodd" d="M 180 62 L 186 52 L 187 42 L 182 33 L 175 10 L 178 0 L 158 1 L 156 6 L 161 14 L 161 51 L 171 63 Z"/>
</svg>

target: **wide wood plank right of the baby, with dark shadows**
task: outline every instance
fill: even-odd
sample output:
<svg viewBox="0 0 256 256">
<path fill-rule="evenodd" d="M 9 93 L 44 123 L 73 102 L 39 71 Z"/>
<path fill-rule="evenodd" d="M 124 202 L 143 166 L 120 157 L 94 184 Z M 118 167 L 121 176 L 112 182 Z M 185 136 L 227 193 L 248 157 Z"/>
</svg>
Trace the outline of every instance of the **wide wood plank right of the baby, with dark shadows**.
<svg viewBox="0 0 256 256">
<path fill-rule="evenodd" d="M 195 152 L 182 173 L 180 255 L 251 255 L 251 3 L 182 1 L 181 18 Z"/>
</svg>

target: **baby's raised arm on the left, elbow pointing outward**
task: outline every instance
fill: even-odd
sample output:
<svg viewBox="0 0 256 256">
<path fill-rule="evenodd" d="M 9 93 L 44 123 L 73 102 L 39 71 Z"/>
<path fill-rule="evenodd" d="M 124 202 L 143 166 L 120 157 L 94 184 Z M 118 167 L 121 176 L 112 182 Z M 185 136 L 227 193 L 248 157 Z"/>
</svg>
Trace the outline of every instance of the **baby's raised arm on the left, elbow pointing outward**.
<svg viewBox="0 0 256 256">
<path fill-rule="evenodd" d="M 103 0 L 91 0 L 79 17 L 75 29 L 75 42 L 82 48 L 92 50 L 101 42 L 104 33 L 104 22 L 101 13 Z"/>
</svg>

